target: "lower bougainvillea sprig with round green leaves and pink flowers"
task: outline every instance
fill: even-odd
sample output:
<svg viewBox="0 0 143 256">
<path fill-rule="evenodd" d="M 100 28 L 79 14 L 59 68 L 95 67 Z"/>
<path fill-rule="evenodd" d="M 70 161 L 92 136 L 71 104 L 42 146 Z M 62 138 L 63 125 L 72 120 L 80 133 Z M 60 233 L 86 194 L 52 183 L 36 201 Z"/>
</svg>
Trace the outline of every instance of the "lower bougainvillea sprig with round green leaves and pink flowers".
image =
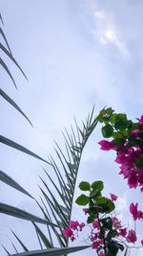
<svg viewBox="0 0 143 256">
<path fill-rule="evenodd" d="M 74 241 L 83 228 L 90 226 L 90 234 L 86 242 L 92 245 L 92 249 L 95 249 L 99 256 L 115 256 L 119 250 L 124 251 L 125 247 L 128 249 L 130 244 L 137 241 L 135 230 L 123 226 L 115 215 L 114 201 L 118 197 L 113 194 L 110 198 L 102 196 L 104 185 L 101 180 L 94 181 L 92 184 L 82 181 L 79 188 L 89 194 L 88 196 L 82 194 L 76 199 L 78 205 L 86 206 L 83 211 L 87 216 L 87 223 L 70 221 L 69 227 L 63 230 L 67 238 Z M 134 211 L 133 207 L 135 206 L 132 204 L 131 209 L 134 214 L 136 210 Z"/>
</svg>

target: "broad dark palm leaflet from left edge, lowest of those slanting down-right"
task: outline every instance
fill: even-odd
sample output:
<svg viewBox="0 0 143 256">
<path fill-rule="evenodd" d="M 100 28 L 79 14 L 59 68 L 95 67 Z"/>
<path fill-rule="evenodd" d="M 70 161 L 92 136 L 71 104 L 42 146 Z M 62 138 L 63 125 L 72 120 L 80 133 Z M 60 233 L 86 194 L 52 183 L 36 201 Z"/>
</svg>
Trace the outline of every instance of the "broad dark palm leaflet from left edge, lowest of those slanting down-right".
<svg viewBox="0 0 143 256">
<path fill-rule="evenodd" d="M 41 219 L 35 215 L 32 215 L 26 211 L 23 211 L 19 208 L 10 206 L 10 205 L 2 203 L 2 202 L 0 203 L 0 213 L 7 214 L 7 215 L 13 216 L 15 218 L 23 219 L 26 221 L 35 221 L 35 222 L 39 222 L 39 223 L 58 226 L 50 221 L 43 220 L 43 219 Z"/>
</svg>

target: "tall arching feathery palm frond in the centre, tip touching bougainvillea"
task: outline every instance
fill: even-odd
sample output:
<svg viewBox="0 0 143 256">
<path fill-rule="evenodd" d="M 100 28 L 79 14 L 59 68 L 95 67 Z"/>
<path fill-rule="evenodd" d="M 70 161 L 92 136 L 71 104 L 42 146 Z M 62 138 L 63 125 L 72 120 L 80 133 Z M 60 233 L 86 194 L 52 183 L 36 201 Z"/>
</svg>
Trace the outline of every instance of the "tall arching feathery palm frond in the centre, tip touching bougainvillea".
<svg viewBox="0 0 143 256">
<path fill-rule="evenodd" d="M 75 131 L 72 128 L 72 134 L 69 134 L 67 130 L 63 133 L 67 154 L 56 143 L 55 153 L 57 161 L 53 157 L 50 159 L 51 169 L 54 171 L 56 178 L 51 178 L 51 175 L 45 169 L 44 171 L 49 180 L 46 181 L 46 179 L 40 177 L 45 187 L 45 190 L 43 190 L 39 186 L 44 197 L 43 202 L 45 201 L 46 209 L 50 209 L 52 220 L 60 226 L 59 232 L 56 235 L 60 236 L 64 244 L 66 243 L 64 246 L 68 245 L 68 240 L 65 239 L 62 230 L 69 225 L 71 220 L 72 201 L 82 152 L 98 122 L 96 118 L 93 118 L 93 112 L 94 107 L 92 108 L 92 113 L 88 115 L 86 122 L 83 122 L 82 129 L 78 127 L 75 121 Z M 48 186 L 50 182 L 55 193 Z"/>
</svg>

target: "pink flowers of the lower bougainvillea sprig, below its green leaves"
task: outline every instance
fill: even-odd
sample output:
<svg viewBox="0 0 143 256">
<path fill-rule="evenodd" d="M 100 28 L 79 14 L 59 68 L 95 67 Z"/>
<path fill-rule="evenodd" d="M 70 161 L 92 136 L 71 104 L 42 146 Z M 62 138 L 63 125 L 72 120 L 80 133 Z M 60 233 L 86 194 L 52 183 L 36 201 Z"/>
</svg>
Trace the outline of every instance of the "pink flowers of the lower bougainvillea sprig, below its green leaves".
<svg viewBox="0 0 143 256">
<path fill-rule="evenodd" d="M 92 221 L 92 231 L 89 236 L 89 240 L 92 243 L 92 249 L 97 250 L 99 256 L 105 255 L 104 248 L 108 245 L 108 240 L 111 234 L 113 234 L 113 238 L 120 238 L 120 241 L 123 241 L 123 239 L 125 239 L 124 242 L 126 241 L 133 244 L 137 241 L 136 232 L 133 229 L 127 230 L 126 227 L 123 227 L 121 225 L 121 221 L 119 221 L 117 217 L 114 216 L 112 217 L 112 219 L 108 218 L 108 221 L 109 222 L 106 222 L 106 225 L 107 223 L 109 224 L 110 221 L 112 221 L 110 223 L 112 225 L 112 232 L 110 230 L 111 233 L 109 232 L 109 228 L 106 227 L 105 222 L 102 221 L 102 219 L 94 219 L 94 221 Z M 78 235 L 78 231 L 82 231 L 83 227 L 85 226 L 86 224 L 84 222 L 79 223 L 78 221 L 70 221 L 69 227 L 63 230 L 63 234 L 66 238 L 70 238 L 73 242 L 75 240 L 75 236 Z M 102 234 L 101 232 L 101 230 L 103 229 L 104 234 Z M 141 241 L 141 244 L 143 245 L 143 240 Z"/>
</svg>

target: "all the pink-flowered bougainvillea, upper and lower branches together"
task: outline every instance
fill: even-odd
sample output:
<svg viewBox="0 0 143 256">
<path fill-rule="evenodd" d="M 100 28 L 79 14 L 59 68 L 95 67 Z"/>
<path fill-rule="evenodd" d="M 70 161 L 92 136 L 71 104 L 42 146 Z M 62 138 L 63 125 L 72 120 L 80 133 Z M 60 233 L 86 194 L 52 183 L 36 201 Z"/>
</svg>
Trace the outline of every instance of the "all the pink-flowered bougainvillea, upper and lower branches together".
<svg viewBox="0 0 143 256">
<path fill-rule="evenodd" d="M 129 188 L 140 188 L 143 191 L 143 116 L 133 123 L 128 120 L 126 114 L 114 113 L 112 107 L 102 109 L 98 115 L 99 123 L 102 123 L 102 135 L 112 140 L 101 140 L 98 144 L 103 151 L 116 151 L 115 162 L 120 164 L 119 175 L 128 180 Z M 64 235 L 72 241 L 78 236 L 78 232 L 90 225 L 90 234 L 87 243 L 92 245 L 99 256 L 115 256 L 118 251 L 125 251 L 137 241 L 136 230 L 129 226 L 123 226 L 115 214 L 115 201 L 117 196 L 111 194 L 110 198 L 102 196 L 104 184 L 101 180 L 90 184 L 82 181 L 79 184 L 82 194 L 76 199 L 78 205 L 86 206 L 84 212 L 87 223 L 70 221 L 69 227 L 63 230 Z M 138 210 L 138 203 L 131 203 L 130 213 L 133 221 L 142 221 L 143 212 Z M 135 225 L 134 225 L 135 226 Z M 143 246 L 143 240 L 140 242 Z"/>
</svg>

